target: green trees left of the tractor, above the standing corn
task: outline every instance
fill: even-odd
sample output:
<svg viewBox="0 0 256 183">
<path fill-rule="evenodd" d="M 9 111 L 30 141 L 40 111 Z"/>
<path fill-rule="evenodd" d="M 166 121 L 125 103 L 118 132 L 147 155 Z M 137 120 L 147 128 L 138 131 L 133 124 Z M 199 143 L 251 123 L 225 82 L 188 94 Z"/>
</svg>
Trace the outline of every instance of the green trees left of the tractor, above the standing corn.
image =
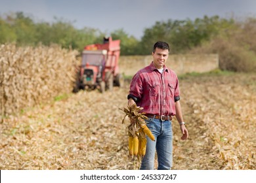
<svg viewBox="0 0 256 183">
<path fill-rule="evenodd" d="M 19 46 L 37 44 L 60 44 L 63 48 L 83 50 L 86 44 L 101 41 L 104 36 L 98 29 L 84 27 L 75 29 L 71 22 L 55 18 L 53 24 L 38 22 L 23 12 L 9 14 L 0 18 L 0 42 L 16 42 Z M 100 39 L 99 39 L 100 38 Z"/>
</svg>

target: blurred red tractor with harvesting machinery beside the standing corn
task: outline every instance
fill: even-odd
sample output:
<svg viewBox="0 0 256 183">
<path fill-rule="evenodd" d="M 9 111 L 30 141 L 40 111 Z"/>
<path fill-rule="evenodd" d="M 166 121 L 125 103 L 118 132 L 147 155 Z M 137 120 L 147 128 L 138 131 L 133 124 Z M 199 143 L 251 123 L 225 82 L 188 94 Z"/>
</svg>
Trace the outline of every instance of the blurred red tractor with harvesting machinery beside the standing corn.
<svg viewBox="0 0 256 183">
<path fill-rule="evenodd" d="M 95 88 L 104 92 L 111 91 L 113 86 L 122 86 L 123 77 L 118 67 L 119 55 L 120 40 L 112 41 L 112 37 L 104 37 L 103 44 L 85 46 L 74 92 Z"/>
</svg>

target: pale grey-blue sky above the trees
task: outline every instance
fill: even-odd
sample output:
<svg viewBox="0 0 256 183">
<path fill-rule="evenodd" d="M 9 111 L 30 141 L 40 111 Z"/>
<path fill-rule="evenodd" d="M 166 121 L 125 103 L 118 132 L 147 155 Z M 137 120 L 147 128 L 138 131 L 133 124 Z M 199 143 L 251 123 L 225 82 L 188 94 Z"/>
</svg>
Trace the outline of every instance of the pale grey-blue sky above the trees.
<svg viewBox="0 0 256 183">
<path fill-rule="evenodd" d="M 256 0 L 0 0 L 0 16 L 24 14 L 38 22 L 72 22 L 109 34 L 123 29 L 140 39 L 157 21 L 194 20 L 203 16 L 256 17 Z"/>
</svg>

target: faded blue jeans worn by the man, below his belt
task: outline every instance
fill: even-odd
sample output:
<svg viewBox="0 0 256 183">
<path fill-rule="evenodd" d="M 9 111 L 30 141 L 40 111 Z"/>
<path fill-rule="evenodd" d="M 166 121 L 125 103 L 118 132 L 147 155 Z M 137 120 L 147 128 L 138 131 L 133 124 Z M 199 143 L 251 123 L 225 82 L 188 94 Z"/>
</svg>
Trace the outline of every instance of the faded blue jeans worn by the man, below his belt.
<svg viewBox="0 0 256 183">
<path fill-rule="evenodd" d="M 169 170 L 173 165 L 173 129 L 171 121 L 148 118 L 146 124 L 156 141 L 147 138 L 146 155 L 142 159 L 140 170 L 153 170 L 155 153 L 158 154 L 158 170 Z"/>
</svg>

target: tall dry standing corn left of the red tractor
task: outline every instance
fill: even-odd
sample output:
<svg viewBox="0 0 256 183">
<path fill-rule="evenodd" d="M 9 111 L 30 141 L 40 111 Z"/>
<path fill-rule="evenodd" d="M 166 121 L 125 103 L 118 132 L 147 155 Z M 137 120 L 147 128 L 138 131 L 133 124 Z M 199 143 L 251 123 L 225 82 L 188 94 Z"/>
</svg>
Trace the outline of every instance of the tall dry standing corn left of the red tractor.
<svg viewBox="0 0 256 183">
<path fill-rule="evenodd" d="M 0 46 L 1 116 L 72 91 L 77 52 L 60 46 Z"/>
</svg>

